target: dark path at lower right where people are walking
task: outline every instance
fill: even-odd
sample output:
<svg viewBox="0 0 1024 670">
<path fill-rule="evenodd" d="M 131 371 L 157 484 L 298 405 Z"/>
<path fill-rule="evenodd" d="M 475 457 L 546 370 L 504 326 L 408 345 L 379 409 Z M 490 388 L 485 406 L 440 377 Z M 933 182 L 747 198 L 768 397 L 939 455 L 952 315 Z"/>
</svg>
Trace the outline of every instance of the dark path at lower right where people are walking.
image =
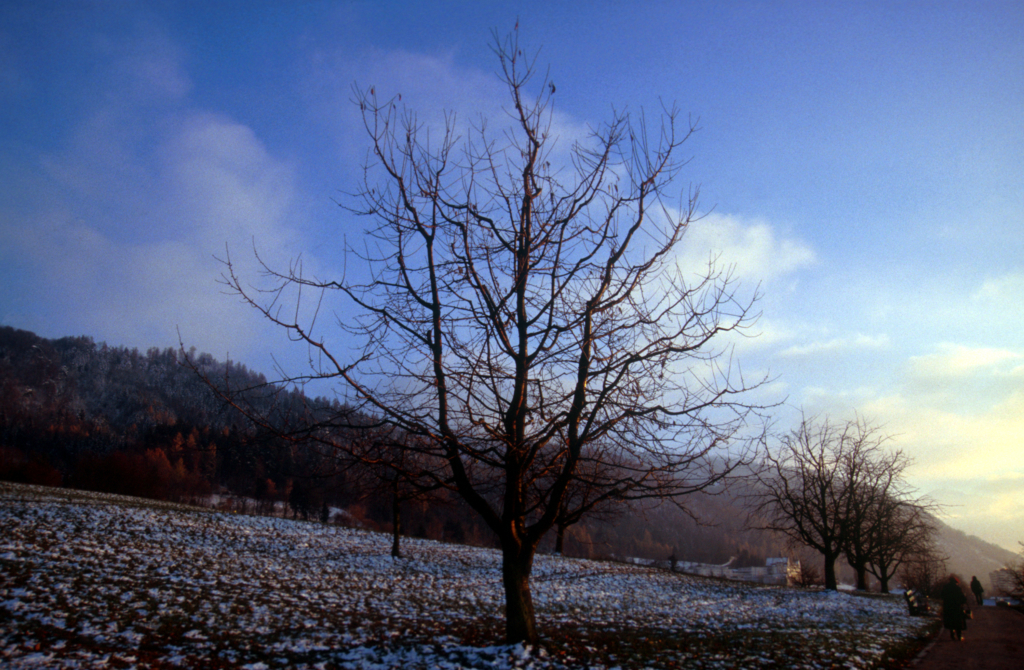
<svg viewBox="0 0 1024 670">
<path fill-rule="evenodd" d="M 976 608 L 964 641 L 942 630 L 913 670 L 1020 670 L 1024 668 L 1024 615 L 1009 608 Z"/>
</svg>

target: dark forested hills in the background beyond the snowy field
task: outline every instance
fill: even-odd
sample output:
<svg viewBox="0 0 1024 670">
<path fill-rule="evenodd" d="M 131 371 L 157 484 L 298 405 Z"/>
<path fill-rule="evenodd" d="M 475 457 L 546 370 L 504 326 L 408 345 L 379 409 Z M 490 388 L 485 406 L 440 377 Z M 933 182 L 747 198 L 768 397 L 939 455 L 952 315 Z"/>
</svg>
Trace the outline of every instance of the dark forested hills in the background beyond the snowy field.
<svg viewBox="0 0 1024 670">
<path fill-rule="evenodd" d="M 293 515 L 344 508 L 348 522 L 391 528 L 390 499 L 373 481 L 312 451 L 282 446 L 250 429 L 188 367 L 184 352 L 95 343 L 86 337 L 41 338 L 0 327 L 0 479 L 199 502 L 214 492 L 268 510 L 287 503 Z M 268 385 L 245 366 L 205 353 L 189 358 L 210 377 L 253 389 L 282 416 L 309 405 L 333 407 L 295 389 Z M 349 464 L 350 465 L 350 464 Z M 332 473 L 334 471 L 334 473 Z M 564 553 L 597 558 L 762 566 L 770 556 L 811 564 L 820 557 L 777 535 L 744 528 L 742 505 L 728 495 L 693 495 L 689 512 L 674 506 L 618 509 L 571 527 Z M 460 501 L 438 496 L 408 502 L 402 525 L 416 538 L 488 545 L 489 532 Z M 947 569 L 978 577 L 1016 556 L 938 525 Z M 554 534 L 542 549 L 552 551 Z M 852 581 L 845 575 L 846 581 Z"/>
</svg>

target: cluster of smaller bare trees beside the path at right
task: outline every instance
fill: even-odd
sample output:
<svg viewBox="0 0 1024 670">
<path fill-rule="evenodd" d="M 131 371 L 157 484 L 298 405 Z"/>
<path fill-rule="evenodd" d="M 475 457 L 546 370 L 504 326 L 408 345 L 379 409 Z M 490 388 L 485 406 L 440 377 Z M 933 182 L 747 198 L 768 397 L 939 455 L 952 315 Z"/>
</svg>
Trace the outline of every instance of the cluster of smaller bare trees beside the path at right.
<svg viewBox="0 0 1024 670">
<path fill-rule="evenodd" d="M 904 480 L 909 459 L 862 418 L 804 418 L 767 450 L 751 493 L 762 528 L 783 533 L 823 558 L 825 588 L 836 589 L 845 557 L 867 589 L 870 573 L 889 590 L 900 570 L 936 564 L 932 505 Z"/>
</svg>

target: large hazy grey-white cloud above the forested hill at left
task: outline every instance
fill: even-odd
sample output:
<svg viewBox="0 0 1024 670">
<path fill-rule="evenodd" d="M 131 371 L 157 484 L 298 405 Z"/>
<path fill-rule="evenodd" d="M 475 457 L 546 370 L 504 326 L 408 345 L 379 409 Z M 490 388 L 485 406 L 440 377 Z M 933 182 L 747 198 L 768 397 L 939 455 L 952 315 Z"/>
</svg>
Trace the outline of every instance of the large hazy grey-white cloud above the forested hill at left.
<svg viewBox="0 0 1024 670">
<path fill-rule="evenodd" d="M 254 239 L 271 262 L 293 255 L 295 168 L 246 125 L 188 107 L 168 40 L 105 48 L 106 89 L 0 224 L 34 305 L 11 325 L 142 348 L 177 344 L 180 328 L 186 344 L 252 361 L 268 327 L 224 295 L 214 256 L 230 245 L 256 280 Z"/>
</svg>

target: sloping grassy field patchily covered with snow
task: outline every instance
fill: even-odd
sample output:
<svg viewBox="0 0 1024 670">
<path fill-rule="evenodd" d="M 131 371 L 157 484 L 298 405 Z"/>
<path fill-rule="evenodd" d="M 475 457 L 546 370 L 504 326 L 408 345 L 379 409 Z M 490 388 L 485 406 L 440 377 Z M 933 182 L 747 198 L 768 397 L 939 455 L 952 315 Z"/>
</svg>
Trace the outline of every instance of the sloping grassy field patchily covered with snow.
<svg viewBox="0 0 1024 670">
<path fill-rule="evenodd" d="M 0 483 L 3 668 L 874 668 L 902 599 L 539 556 L 543 645 L 501 644 L 485 549 Z"/>
</svg>

